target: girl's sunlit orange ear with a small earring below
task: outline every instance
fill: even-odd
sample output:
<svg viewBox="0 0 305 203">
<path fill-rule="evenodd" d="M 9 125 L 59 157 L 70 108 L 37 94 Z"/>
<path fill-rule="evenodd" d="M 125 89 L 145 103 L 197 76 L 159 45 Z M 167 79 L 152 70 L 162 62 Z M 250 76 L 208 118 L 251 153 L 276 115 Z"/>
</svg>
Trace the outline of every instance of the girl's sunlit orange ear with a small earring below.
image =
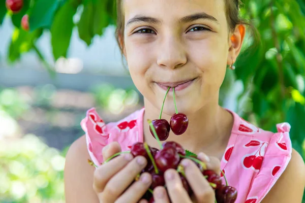
<svg viewBox="0 0 305 203">
<path fill-rule="evenodd" d="M 236 25 L 234 32 L 231 33 L 231 37 L 229 40 L 229 53 L 227 59 L 228 65 L 231 65 L 233 62 L 236 61 L 236 58 L 240 53 L 243 40 L 245 39 L 245 33 L 246 26 L 242 24 Z M 232 61 L 232 58 L 234 61 Z"/>
</svg>

